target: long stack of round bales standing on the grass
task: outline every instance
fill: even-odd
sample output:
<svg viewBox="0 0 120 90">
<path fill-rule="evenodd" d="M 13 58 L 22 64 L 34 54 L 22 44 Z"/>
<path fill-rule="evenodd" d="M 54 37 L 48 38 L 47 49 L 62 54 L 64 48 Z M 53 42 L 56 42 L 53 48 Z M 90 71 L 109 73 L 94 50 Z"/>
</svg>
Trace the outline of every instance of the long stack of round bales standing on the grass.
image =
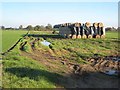
<svg viewBox="0 0 120 90">
<path fill-rule="evenodd" d="M 105 38 L 103 23 L 64 23 L 55 25 L 59 34 L 66 38 Z"/>
</svg>

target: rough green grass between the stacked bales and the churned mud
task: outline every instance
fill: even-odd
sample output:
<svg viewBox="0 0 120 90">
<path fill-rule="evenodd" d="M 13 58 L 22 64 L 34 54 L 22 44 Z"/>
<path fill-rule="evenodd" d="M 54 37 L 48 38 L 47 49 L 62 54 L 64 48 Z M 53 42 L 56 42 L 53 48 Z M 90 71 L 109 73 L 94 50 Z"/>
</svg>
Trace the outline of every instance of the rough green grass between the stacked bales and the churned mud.
<svg viewBox="0 0 120 90">
<path fill-rule="evenodd" d="M 86 58 L 109 56 L 118 53 L 118 32 L 106 32 L 105 39 L 53 39 L 47 38 L 52 43 L 50 46 L 56 53 L 66 50 L 66 54 L 58 54 L 72 61 L 81 62 Z M 72 56 L 72 57 L 71 57 Z"/>
</svg>

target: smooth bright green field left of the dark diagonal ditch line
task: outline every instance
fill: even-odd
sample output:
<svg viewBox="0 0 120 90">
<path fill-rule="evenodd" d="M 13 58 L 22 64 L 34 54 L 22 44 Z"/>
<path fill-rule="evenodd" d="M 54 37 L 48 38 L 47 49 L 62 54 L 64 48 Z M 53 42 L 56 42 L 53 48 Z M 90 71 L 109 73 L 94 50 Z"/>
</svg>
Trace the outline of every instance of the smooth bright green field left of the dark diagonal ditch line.
<svg viewBox="0 0 120 90">
<path fill-rule="evenodd" d="M 22 35 L 26 34 L 27 31 L 17 30 L 2 30 L 2 52 L 7 51 L 12 47 Z"/>
</svg>

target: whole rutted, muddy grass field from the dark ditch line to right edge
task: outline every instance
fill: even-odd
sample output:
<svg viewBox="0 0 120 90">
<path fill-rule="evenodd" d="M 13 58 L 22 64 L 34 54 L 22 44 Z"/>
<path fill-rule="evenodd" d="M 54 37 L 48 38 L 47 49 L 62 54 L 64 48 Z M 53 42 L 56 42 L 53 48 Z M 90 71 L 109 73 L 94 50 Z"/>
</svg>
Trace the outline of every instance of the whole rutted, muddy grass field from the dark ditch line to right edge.
<svg viewBox="0 0 120 90">
<path fill-rule="evenodd" d="M 30 34 L 3 55 L 3 87 L 118 88 L 118 43 Z"/>
</svg>

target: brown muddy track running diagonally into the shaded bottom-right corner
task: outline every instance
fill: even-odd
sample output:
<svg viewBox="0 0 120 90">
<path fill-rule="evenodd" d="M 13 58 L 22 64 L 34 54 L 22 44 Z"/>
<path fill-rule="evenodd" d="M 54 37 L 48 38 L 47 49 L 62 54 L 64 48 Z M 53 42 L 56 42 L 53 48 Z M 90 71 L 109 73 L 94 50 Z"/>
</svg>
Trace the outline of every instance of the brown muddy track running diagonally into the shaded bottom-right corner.
<svg viewBox="0 0 120 90">
<path fill-rule="evenodd" d="M 33 53 L 22 51 L 22 56 L 27 56 L 38 61 L 52 72 L 58 74 L 64 72 L 62 75 L 68 77 L 68 81 L 65 84 L 65 87 L 118 87 L 117 77 L 111 77 L 99 73 L 90 65 L 78 65 L 75 63 L 69 63 L 60 57 L 50 55 L 50 53 L 47 51 L 34 50 Z M 64 69 L 61 67 L 62 65 L 65 66 Z M 80 73 L 79 69 L 82 73 Z"/>
</svg>

